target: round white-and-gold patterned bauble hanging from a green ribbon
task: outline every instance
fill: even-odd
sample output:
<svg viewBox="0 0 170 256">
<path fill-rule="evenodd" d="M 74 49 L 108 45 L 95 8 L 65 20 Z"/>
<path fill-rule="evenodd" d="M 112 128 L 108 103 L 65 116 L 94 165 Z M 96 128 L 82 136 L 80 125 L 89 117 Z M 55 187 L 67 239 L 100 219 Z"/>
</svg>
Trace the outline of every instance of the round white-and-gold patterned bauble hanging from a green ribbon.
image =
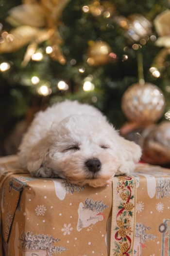
<svg viewBox="0 0 170 256">
<path fill-rule="evenodd" d="M 132 121 L 155 122 L 161 118 L 164 107 L 164 95 L 152 83 L 135 83 L 122 96 L 122 111 Z"/>
</svg>

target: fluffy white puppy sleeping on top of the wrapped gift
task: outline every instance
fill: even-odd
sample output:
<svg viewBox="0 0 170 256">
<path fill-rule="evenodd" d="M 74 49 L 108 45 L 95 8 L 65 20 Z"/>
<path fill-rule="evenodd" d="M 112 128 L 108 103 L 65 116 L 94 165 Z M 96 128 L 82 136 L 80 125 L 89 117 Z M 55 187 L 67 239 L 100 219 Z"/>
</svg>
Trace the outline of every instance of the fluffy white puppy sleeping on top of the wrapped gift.
<svg viewBox="0 0 170 256">
<path fill-rule="evenodd" d="M 121 138 L 99 110 L 69 100 L 36 115 L 18 153 L 33 176 L 93 187 L 133 172 L 140 156 L 140 147 Z"/>
</svg>

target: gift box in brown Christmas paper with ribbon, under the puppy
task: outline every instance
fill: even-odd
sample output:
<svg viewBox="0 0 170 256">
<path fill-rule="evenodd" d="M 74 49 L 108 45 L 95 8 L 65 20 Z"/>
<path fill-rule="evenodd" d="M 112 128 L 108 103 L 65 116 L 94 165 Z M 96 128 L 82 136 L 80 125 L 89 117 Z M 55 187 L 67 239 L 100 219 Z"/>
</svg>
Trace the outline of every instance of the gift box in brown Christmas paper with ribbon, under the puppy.
<svg viewBox="0 0 170 256">
<path fill-rule="evenodd" d="M 170 169 L 102 188 L 36 178 L 0 158 L 0 256 L 170 256 Z"/>
</svg>

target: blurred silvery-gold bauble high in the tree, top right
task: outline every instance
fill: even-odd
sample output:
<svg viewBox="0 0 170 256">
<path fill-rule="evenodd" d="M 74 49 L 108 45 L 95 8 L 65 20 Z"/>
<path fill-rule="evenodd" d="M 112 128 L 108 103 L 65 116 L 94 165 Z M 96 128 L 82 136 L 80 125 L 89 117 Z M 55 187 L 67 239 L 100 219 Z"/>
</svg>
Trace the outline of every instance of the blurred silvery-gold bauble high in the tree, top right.
<svg viewBox="0 0 170 256">
<path fill-rule="evenodd" d="M 125 30 L 125 36 L 131 41 L 139 41 L 151 33 L 151 21 L 141 14 L 133 14 L 127 18 L 116 16 L 114 20 Z"/>
</svg>

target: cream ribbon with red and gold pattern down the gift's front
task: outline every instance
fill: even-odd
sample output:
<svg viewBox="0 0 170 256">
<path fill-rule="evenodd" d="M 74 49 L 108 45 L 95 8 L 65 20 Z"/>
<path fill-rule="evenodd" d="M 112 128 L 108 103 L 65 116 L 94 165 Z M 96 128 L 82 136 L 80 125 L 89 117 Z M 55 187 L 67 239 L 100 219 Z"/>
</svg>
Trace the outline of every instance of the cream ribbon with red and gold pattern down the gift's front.
<svg viewBox="0 0 170 256">
<path fill-rule="evenodd" d="M 132 176 L 114 177 L 112 185 L 110 256 L 133 256 L 136 224 L 136 179 Z"/>
</svg>

